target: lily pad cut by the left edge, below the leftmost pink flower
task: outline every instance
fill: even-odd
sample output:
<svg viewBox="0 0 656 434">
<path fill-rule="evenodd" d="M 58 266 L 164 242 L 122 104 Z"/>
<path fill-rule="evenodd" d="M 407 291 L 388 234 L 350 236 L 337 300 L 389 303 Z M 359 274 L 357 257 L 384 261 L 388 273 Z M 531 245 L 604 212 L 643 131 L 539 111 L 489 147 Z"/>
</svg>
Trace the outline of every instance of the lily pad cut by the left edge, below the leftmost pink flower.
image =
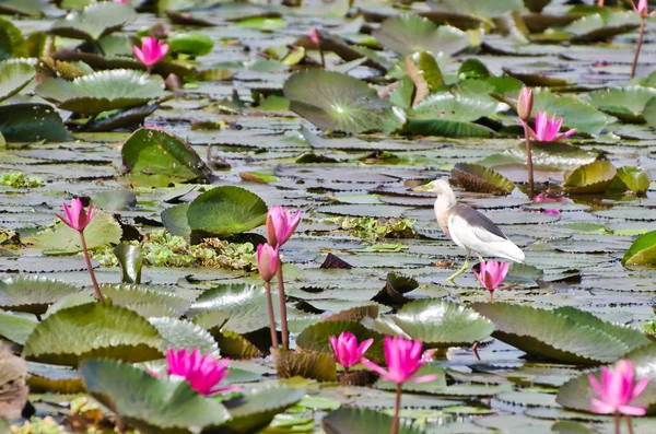
<svg viewBox="0 0 656 434">
<path fill-rule="evenodd" d="M 42 315 L 59 298 L 80 293 L 61 280 L 42 275 L 17 275 L 0 281 L 0 307 L 5 310 Z"/>
</svg>

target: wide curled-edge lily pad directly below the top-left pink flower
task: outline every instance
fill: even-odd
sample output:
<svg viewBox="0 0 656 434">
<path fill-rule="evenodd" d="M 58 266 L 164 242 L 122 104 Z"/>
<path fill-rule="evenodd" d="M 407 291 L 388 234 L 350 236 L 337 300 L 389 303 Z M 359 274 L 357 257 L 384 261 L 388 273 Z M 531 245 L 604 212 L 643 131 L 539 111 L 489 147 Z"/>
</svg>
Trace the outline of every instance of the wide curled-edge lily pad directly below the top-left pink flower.
<svg viewBox="0 0 656 434">
<path fill-rule="evenodd" d="M 94 72 L 72 82 L 50 77 L 36 86 L 35 91 L 61 109 L 97 115 L 143 105 L 163 96 L 164 80 L 160 75 L 117 69 Z"/>
</svg>

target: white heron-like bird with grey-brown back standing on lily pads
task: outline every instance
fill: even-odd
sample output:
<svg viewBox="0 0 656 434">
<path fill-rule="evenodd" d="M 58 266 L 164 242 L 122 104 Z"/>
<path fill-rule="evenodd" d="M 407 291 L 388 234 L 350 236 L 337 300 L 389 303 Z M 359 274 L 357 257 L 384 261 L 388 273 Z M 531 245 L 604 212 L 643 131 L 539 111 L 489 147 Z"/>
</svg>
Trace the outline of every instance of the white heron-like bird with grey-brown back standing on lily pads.
<svg viewBox="0 0 656 434">
<path fill-rule="evenodd" d="M 454 279 L 467 270 L 471 251 L 476 253 L 483 263 L 485 261 L 481 254 L 524 262 L 524 251 L 509 241 L 494 222 L 473 208 L 457 202 L 447 180 L 435 179 L 413 190 L 432 191 L 437 195 L 434 206 L 437 224 L 447 237 L 466 251 L 465 265 L 447 279 L 449 283 L 455 284 Z"/>
</svg>

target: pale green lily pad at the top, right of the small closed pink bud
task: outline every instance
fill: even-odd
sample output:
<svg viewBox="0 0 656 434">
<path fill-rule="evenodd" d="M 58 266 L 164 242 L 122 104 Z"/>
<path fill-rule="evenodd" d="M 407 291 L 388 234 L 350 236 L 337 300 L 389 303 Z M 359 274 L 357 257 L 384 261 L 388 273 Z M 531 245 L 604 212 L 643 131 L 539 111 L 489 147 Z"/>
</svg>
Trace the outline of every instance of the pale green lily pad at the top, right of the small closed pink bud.
<svg viewBox="0 0 656 434">
<path fill-rule="evenodd" d="M 450 25 L 435 25 L 414 14 L 393 16 L 373 32 L 379 44 L 400 55 L 417 51 L 455 55 L 469 47 L 469 34 Z"/>
</svg>

